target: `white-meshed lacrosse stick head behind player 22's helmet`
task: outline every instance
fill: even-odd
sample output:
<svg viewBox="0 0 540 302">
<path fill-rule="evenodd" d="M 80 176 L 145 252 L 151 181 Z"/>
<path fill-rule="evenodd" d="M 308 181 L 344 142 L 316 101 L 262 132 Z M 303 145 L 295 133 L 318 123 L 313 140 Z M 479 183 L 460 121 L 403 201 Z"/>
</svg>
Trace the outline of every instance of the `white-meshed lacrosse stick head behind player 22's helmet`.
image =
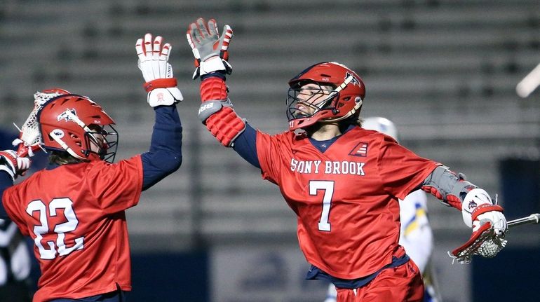
<svg viewBox="0 0 540 302">
<path fill-rule="evenodd" d="M 34 156 L 34 151 L 39 151 L 40 149 L 43 150 L 41 147 L 41 144 L 43 144 L 43 137 L 41 137 L 41 131 L 39 131 L 39 121 L 37 116 L 39 111 L 41 111 L 50 99 L 58 97 L 59 95 L 69 95 L 69 92 L 60 88 L 55 88 L 34 93 L 34 109 L 30 112 L 25 123 L 22 124 L 21 128 L 13 123 L 15 128 L 19 130 L 19 138 L 13 140 L 13 146 L 18 146 L 17 156 Z"/>
</svg>

